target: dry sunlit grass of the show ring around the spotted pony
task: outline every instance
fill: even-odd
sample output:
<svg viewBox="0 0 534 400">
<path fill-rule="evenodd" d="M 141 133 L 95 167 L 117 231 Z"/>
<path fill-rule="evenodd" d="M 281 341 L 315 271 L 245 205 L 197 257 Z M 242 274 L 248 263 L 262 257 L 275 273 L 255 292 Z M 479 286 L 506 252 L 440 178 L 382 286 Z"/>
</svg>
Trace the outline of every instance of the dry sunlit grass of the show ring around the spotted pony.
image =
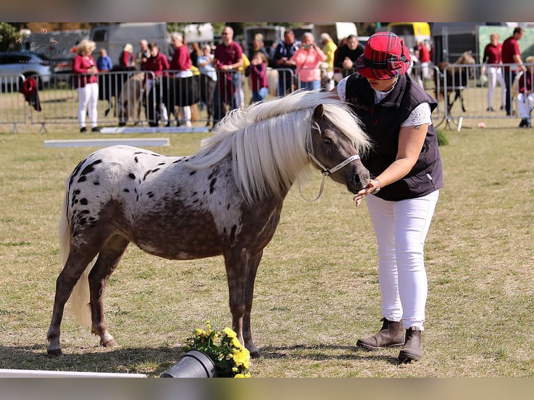
<svg viewBox="0 0 534 400">
<path fill-rule="evenodd" d="M 94 148 L 43 146 L 82 137 L 76 125 L 49 126 L 46 134 L 10 128 L 0 126 L 0 368 L 156 377 L 204 321 L 231 325 L 220 257 L 167 261 L 130 245 L 105 294 L 109 332 L 121 347 L 100 348 L 90 328 L 66 314 L 65 355 L 47 357 L 63 185 Z M 380 328 L 376 243 L 365 206 L 355 208 L 346 188 L 328 180 L 314 203 L 293 187 L 265 249 L 252 310 L 263 355 L 252 362 L 253 377 L 534 376 L 534 130 L 446 134 L 445 187 L 425 254 L 422 360 L 399 365 L 398 349 L 356 348 Z M 187 155 L 206 134 L 128 135 L 136 136 L 168 136 L 171 146 L 151 149 Z M 317 172 L 303 185 L 307 198 L 320 180 Z"/>
</svg>

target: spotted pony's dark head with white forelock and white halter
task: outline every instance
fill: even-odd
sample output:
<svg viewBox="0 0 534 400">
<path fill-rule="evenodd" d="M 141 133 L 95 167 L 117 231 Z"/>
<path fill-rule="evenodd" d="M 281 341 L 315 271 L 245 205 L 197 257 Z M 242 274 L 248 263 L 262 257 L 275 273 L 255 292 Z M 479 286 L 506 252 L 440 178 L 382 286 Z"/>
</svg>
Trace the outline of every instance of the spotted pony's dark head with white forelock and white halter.
<svg viewBox="0 0 534 400">
<path fill-rule="evenodd" d="M 349 127 L 343 126 L 346 117 L 353 124 L 351 131 L 347 130 Z M 338 123 L 341 125 L 337 125 Z M 356 134 L 351 136 L 346 132 L 356 132 Z M 363 189 L 369 183 L 369 171 L 360 160 L 360 152 L 367 150 L 368 146 L 365 133 L 350 111 L 341 107 L 330 109 L 328 105 L 315 107 L 310 157 L 323 175 L 346 185 L 352 193 Z"/>
</svg>

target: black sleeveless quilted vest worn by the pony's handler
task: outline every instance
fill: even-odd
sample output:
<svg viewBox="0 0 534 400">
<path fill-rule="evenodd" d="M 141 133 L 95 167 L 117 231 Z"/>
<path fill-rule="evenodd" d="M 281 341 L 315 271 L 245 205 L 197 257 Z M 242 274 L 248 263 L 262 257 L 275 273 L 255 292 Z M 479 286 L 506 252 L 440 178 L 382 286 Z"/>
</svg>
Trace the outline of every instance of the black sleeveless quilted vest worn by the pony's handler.
<svg viewBox="0 0 534 400">
<path fill-rule="evenodd" d="M 357 72 L 346 82 L 346 102 L 360 118 L 362 128 L 374 142 L 372 151 L 362 157 L 371 176 L 379 176 L 397 156 L 401 123 L 422 102 L 434 111 L 438 103 L 409 75 L 401 75 L 395 89 L 378 104 L 367 79 Z M 397 182 L 383 187 L 376 196 L 399 201 L 422 197 L 443 186 L 443 171 L 434 124 L 428 127 L 425 144 L 411 171 Z"/>
</svg>

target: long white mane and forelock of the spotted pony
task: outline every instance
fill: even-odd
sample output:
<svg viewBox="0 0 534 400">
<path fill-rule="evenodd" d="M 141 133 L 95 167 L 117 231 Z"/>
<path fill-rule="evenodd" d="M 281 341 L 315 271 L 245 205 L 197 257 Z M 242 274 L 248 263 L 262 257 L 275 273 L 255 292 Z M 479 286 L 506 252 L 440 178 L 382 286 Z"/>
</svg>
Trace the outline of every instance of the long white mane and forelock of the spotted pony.
<svg viewBox="0 0 534 400">
<path fill-rule="evenodd" d="M 188 165 L 211 167 L 231 154 L 234 178 L 247 201 L 269 192 L 281 195 L 310 166 L 312 115 L 317 105 L 323 105 L 326 118 L 358 151 L 369 148 L 367 135 L 345 102 L 328 92 L 296 91 L 230 111 L 215 134 L 201 141 Z"/>
</svg>

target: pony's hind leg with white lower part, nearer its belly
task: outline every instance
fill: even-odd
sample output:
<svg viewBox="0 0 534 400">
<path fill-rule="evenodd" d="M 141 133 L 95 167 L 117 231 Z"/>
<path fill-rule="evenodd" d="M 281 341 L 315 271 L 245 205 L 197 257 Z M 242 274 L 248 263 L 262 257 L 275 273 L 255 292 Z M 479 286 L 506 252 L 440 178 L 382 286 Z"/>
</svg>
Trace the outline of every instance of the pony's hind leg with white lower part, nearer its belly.
<svg viewBox="0 0 534 400">
<path fill-rule="evenodd" d="M 128 243 L 130 243 L 129 240 L 120 235 L 109 238 L 100 250 L 98 259 L 89 274 L 91 332 L 100 337 L 100 345 L 104 347 L 115 347 L 117 344 L 112 335 L 107 332 L 102 298 L 109 277 L 119 265 Z"/>
</svg>

